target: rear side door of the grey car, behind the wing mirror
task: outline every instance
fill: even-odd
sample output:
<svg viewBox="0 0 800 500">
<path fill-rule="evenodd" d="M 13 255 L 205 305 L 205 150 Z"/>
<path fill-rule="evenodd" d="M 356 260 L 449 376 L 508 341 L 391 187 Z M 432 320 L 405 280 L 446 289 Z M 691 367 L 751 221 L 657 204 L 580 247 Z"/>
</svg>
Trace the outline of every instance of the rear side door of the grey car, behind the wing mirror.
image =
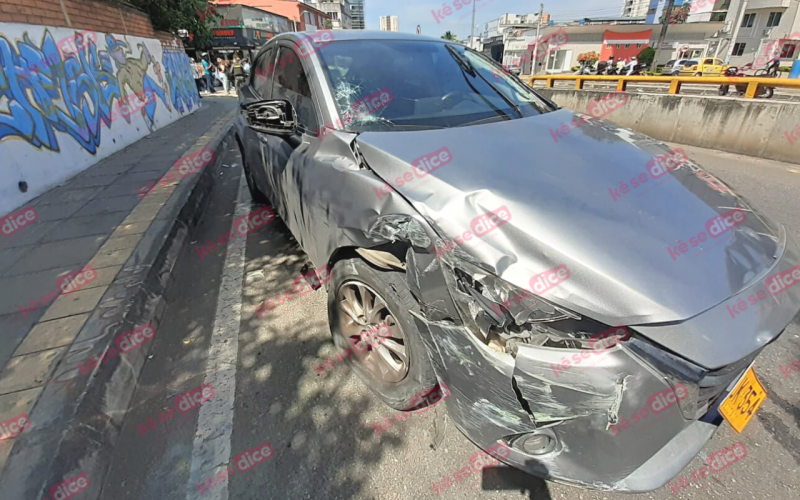
<svg viewBox="0 0 800 500">
<path fill-rule="evenodd" d="M 275 71 L 276 45 L 268 46 L 253 62 L 250 72 L 250 80 L 247 85 L 242 87 L 242 104 L 264 101 L 272 97 L 272 80 Z M 246 120 L 245 120 L 246 121 Z M 252 173 L 258 187 L 270 200 L 275 199 L 267 177 L 268 154 L 266 147 L 269 144 L 267 134 L 256 132 L 250 127 L 244 127 L 244 155 L 245 161 Z"/>
</svg>

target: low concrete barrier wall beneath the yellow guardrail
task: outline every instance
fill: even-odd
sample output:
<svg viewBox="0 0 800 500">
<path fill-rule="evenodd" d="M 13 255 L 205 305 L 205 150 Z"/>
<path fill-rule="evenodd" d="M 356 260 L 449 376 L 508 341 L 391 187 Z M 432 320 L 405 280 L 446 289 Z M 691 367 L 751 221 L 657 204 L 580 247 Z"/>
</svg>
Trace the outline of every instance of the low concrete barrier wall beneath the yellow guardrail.
<svg viewBox="0 0 800 500">
<path fill-rule="evenodd" d="M 587 114 L 592 100 L 608 94 L 536 90 L 559 106 Z M 800 163 L 798 103 L 636 92 L 627 95 L 628 103 L 604 119 L 661 141 Z"/>
</svg>

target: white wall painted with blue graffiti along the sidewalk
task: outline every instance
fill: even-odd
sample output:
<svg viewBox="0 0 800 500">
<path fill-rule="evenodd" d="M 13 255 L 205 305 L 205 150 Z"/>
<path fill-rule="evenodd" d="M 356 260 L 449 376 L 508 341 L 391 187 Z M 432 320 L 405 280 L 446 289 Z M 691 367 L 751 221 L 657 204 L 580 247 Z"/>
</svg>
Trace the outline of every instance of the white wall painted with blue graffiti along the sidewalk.
<svg viewBox="0 0 800 500">
<path fill-rule="evenodd" d="M 0 23 L 0 215 L 199 107 L 175 46 Z"/>
</svg>

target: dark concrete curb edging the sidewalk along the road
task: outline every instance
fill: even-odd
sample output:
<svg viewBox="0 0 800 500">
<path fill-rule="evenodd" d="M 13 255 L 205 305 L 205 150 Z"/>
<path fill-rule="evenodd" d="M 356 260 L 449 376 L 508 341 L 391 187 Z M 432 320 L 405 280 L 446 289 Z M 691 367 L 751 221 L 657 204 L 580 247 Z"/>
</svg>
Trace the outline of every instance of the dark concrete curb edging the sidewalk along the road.
<svg viewBox="0 0 800 500">
<path fill-rule="evenodd" d="M 232 142 L 232 121 L 218 123 L 221 127 L 215 133 L 212 129 L 210 138 L 204 135 L 187 150 L 188 154 L 207 146 L 214 151 L 213 163 L 199 175 L 183 179 L 171 196 L 161 201 L 158 215 L 41 392 L 30 414 L 32 430 L 16 438 L 0 477 L 3 498 L 48 498 L 52 486 L 82 473 L 89 479 L 89 488 L 81 492 L 81 498 L 100 497 L 128 404 L 153 342 L 104 359 L 88 376 L 77 366 L 102 356 L 116 347 L 117 336 L 144 324 L 152 323 L 157 336 L 167 333 L 158 331 L 166 308 L 164 295 L 172 286 L 178 256 L 214 186 L 221 153 Z M 142 211 L 159 204 L 158 200 L 154 204 L 149 201 L 145 198 L 142 202 L 148 205 Z"/>
</svg>

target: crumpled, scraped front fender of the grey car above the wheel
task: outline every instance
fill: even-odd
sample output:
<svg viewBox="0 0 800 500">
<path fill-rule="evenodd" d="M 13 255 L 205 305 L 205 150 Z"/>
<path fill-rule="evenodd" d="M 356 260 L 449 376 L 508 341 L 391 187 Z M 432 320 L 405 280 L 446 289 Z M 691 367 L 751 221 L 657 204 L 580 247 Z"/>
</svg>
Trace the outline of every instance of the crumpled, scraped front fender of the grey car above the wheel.
<svg viewBox="0 0 800 500">
<path fill-rule="evenodd" d="M 283 141 L 269 148 L 275 158 L 268 175 L 277 191 L 270 198 L 277 200 L 276 211 L 318 267 L 341 247 L 371 248 L 398 240 L 429 247 L 434 235 L 402 196 L 379 192 L 384 183 L 360 165 L 353 137 L 333 132 L 321 144 L 294 147 Z"/>
</svg>

